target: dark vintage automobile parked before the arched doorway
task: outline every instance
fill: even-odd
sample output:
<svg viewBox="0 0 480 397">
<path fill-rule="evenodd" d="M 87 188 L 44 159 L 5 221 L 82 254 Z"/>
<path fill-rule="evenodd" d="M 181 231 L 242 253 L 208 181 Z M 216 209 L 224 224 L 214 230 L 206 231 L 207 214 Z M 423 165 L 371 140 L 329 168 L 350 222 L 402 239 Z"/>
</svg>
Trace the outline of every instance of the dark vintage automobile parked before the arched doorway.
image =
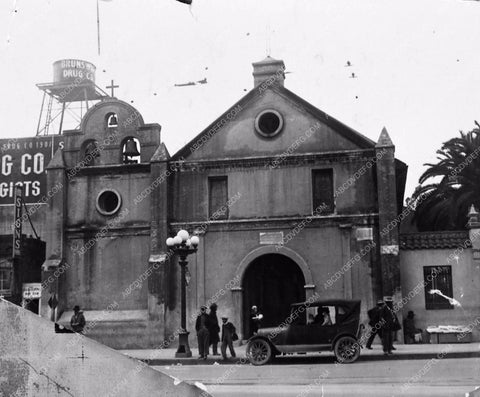
<svg viewBox="0 0 480 397">
<path fill-rule="evenodd" d="M 362 329 L 359 300 L 294 303 L 282 324 L 260 328 L 249 339 L 246 353 L 253 365 L 279 354 L 322 351 L 333 351 L 338 362 L 353 363 L 360 356 Z"/>
</svg>

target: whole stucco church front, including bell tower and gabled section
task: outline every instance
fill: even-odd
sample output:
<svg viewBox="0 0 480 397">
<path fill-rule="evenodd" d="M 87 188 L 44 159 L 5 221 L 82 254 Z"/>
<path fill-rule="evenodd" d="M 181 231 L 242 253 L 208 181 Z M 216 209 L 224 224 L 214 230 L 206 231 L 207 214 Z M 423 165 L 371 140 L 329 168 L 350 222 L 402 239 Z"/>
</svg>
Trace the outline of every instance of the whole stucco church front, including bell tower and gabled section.
<svg viewBox="0 0 480 397">
<path fill-rule="evenodd" d="M 187 327 L 216 302 L 246 338 L 249 310 L 281 323 L 312 296 L 401 299 L 406 165 L 285 88 L 283 61 L 253 64 L 253 89 L 174 155 L 158 124 L 110 98 L 92 107 L 47 168 L 41 314 L 80 305 L 92 337 L 154 347 L 180 325 L 180 272 L 165 244 L 186 229 Z M 172 133 L 166 131 L 164 133 Z M 55 311 L 49 305 L 55 296 Z M 190 336 L 191 342 L 194 339 Z"/>
</svg>

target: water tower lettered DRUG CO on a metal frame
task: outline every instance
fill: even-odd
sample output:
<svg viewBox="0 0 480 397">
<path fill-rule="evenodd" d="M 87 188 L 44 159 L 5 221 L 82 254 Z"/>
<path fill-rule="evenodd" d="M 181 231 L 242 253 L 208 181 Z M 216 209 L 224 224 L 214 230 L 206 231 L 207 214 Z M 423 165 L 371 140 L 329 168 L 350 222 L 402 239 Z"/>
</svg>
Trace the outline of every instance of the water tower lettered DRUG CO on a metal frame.
<svg viewBox="0 0 480 397">
<path fill-rule="evenodd" d="M 84 113 L 94 102 L 108 97 L 95 84 L 93 63 L 62 59 L 53 63 L 53 83 L 37 84 L 43 91 L 37 135 L 61 134 L 79 127 Z"/>
</svg>

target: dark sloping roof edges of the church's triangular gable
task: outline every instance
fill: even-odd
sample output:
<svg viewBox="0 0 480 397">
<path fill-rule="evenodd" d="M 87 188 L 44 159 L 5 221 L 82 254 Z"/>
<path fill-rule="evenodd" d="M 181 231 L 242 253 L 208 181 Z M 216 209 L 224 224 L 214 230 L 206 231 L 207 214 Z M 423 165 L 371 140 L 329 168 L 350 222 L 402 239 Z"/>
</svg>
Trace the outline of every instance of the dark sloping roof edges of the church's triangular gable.
<svg viewBox="0 0 480 397">
<path fill-rule="evenodd" d="M 375 148 L 375 142 L 372 141 L 370 138 L 367 138 L 365 135 L 360 134 L 358 131 L 355 131 L 353 128 L 348 127 L 347 125 L 343 124 L 342 122 L 338 121 L 334 117 L 328 115 L 324 111 L 316 108 L 306 100 L 302 99 L 298 95 L 294 94 L 292 91 L 288 90 L 287 88 L 279 85 L 271 85 L 267 87 L 265 90 L 272 90 L 277 92 L 279 95 L 282 95 L 289 99 L 290 101 L 296 103 L 305 111 L 309 112 L 312 116 L 317 118 L 319 121 L 324 123 L 325 125 L 329 126 L 336 132 L 338 132 L 340 135 L 342 135 L 344 138 L 350 140 L 351 142 L 355 143 L 358 145 L 361 149 L 373 149 Z M 225 112 L 223 112 L 217 119 L 215 119 L 210 125 L 207 126 L 200 134 L 195 136 L 190 142 L 188 142 L 183 148 L 181 148 L 177 153 L 175 153 L 172 156 L 172 160 L 176 160 L 178 158 L 187 158 L 191 154 L 190 148 L 193 147 L 193 145 L 200 141 L 203 136 L 207 134 L 211 134 L 211 131 L 215 128 L 215 126 L 221 122 L 223 119 L 226 118 L 227 114 L 229 114 L 231 111 L 233 111 L 235 108 L 238 108 L 240 106 L 242 109 L 245 108 L 246 104 L 260 95 L 262 95 L 262 92 L 265 90 L 261 91 L 259 87 L 255 87 L 252 90 L 250 90 L 245 96 L 243 96 L 238 102 L 236 102 L 234 105 L 229 107 Z M 221 129 L 217 132 L 221 133 Z"/>
</svg>

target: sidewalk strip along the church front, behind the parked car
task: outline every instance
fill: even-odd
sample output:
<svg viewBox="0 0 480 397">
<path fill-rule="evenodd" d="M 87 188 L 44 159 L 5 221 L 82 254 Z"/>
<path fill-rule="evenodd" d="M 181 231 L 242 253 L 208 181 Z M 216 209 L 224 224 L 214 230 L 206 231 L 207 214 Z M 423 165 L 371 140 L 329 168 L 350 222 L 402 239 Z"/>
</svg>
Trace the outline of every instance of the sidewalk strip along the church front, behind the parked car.
<svg viewBox="0 0 480 397">
<path fill-rule="evenodd" d="M 249 364 L 245 357 L 245 347 L 235 346 L 237 357 L 229 361 L 222 360 L 222 356 L 208 356 L 206 360 L 199 360 L 198 350 L 192 349 L 192 357 L 175 358 L 176 348 L 169 349 L 145 349 L 145 350 L 119 350 L 119 352 L 136 358 L 141 361 L 148 362 L 149 365 L 213 365 L 218 364 Z M 415 344 L 415 345 L 395 345 L 397 350 L 392 356 L 384 356 L 382 346 L 377 344 L 372 346 L 372 350 L 363 348 L 360 353 L 359 361 L 374 360 L 421 360 L 431 358 L 472 358 L 480 357 L 480 343 L 452 343 L 452 344 Z M 220 351 L 220 349 L 219 349 Z M 273 363 L 281 364 L 300 364 L 314 363 L 319 359 L 322 362 L 334 360 L 332 352 L 324 353 L 308 353 L 278 356 L 279 359 Z"/>
</svg>

